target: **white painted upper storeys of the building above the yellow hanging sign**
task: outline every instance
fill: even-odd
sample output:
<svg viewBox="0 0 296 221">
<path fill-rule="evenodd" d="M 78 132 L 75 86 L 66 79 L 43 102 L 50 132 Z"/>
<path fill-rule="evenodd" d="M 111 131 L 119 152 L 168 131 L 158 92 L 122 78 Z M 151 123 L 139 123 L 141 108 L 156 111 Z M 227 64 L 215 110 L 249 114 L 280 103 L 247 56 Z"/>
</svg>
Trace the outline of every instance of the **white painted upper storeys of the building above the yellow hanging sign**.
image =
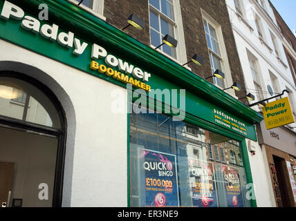
<svg viewBox="0 0 296 221">
<path fill-rule="evenodd" d="M 282 45 L 283 35 L 277 27 L 275 16 L 268 0 L 225 0 L 228 5 L 228 13 L 232 23 L 234 39 L 237 44 L 239 59 L 243 68 L 243 76 L 247 93 L 255 95 L 255 102 L 259 101 L 259 93 L 256 92 L 250 58 L 255 60 L 257 68 L 257 82 L 261 86 L 261 98 L 272 97 L 268 93 L 270 85 L 275 95 L 288 89 L 289 98 L 294 113 L 296 113 L 296 87 L 288 66 L 288 61 Z M 234 1 L 239 2 L 241 12 L 235 6 Z M 286 93 L 284 97 L 286 97 Z M 254 108 L 261 111 L 259 108 Z M 290 124 L 296 126 L 296 124 Z M 296 131 L 296 130 L 295 130 Z"/>
</svg>

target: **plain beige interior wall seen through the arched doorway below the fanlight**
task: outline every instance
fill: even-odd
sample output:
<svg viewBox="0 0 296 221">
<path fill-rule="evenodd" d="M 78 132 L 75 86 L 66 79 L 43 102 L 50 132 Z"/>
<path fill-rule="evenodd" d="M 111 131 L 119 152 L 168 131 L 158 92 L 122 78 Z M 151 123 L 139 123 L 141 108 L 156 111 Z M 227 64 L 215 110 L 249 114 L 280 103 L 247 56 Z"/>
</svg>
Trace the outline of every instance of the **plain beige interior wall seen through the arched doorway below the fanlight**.
<svg viewBox="0 0 296 221">
<path fill-rule="evenodd" d="M 57 139 L 0 127 L 0 162 L 15 163 L 10 206 L 13 198 L 22 206 L 52 206 Z M 39 184 L 48 185 L 48 200 L 39 200 Z"/>
</svg>

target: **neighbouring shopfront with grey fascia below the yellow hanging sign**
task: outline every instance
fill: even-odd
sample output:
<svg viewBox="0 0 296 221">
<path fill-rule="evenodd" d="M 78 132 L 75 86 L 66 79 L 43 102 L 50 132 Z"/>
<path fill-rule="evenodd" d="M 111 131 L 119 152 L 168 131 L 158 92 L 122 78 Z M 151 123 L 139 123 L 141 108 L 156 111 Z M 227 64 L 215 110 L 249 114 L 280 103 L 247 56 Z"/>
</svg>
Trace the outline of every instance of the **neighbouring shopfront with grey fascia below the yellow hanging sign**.
<svg viewBox="0 0 296 221">
<path fill-rule="evenodd" d="M 266 152 L 275 202 L 279 207 L 293 207 L 296 205 L 295 133 L 284 127 L 267 130 L 264 122 L 257 128 L 259 144 Z"/>
</svg>

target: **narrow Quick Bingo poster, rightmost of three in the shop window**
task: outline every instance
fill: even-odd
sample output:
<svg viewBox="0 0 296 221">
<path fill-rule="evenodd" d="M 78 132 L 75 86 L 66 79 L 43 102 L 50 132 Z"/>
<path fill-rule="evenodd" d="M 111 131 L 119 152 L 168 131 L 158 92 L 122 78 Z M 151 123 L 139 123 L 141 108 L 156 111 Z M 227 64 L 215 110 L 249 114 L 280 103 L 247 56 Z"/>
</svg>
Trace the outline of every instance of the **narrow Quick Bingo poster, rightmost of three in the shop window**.
<svg viewBox="0 0 296 221">
<path fill-rule="evenodd" d="M 243 193 L 239 169 L 230 166 L 222 166 L 222 173 L 226 182 L 226 200 L 228 207 L 243 207 Z"/>
</svg>

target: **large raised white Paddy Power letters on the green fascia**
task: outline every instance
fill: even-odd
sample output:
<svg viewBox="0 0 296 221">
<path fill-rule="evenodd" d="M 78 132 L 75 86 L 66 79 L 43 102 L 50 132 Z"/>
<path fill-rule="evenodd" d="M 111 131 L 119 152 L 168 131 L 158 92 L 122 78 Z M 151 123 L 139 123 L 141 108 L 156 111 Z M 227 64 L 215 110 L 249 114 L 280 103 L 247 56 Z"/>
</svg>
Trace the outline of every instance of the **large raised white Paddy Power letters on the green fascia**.
<svg viewBox="0 0 296 221">
<path fill-rule="evenodd" d="M 4 2 L 0 17 L 1 19 L 4 19 L 6 21 L 8 21 L 9 19 L 22 19 L 21 28 L 24 28 L 24 30 L 33 32 L 35 34 L 39 33 L 41 37 L 44 37 L 44 39 L 57 41 L 60 46 L 66 48 L 74 47 L 73 54 L 77 56 L 82 55 L 82 53 L 89 46 L 89 44 L 87 44 L 86 42 L 80 41 L 80 39 L 75 38 L 73 32 L 59 32 L 59 26 L 57 26 L 55 23 L 53 23 L 51 26 L 48 24 L 44 24 L 41 26 L 41 23 L 38 19 L 35 19 L 34 17 L 30 17 L 28 15 L 25 16 L 24 10 L 19 8 L 19 6 L 10 3 L 9 1 Z M 124 72 L 128 75 L 131 74 L 133 75 L 133 77 L 141 79 L 142 81 L 149 81 L 149 77 L 151 77 L 151 74 L 143 72 L 140 68 L 134 67 L 133 65 L 127 63 L 127 61 L 122 61 L 121 59 L 118 59 L 113 55 L 108 55 L 107 50 L 102 48 L 102 46 L 98 46 L 98 44 L 93 44 L 91 50 L 91 58 L 105 58 L 104 61 L 109 67 L 118 67 L 121 72 Z M 122 81 L 124 81 L 124 79 L 127 79 L 127 77 L 122 78 Z M 128 79 L 130 78 L 128 77 Z M 129 81 L 127 81 L 127 83 L 129 83 Z M 131 84 L 135 85 L 133 82 L 131 82 Z M 136 86 L 150 91 L 149 86 L 144 86 L 143 84 L 140 85 L 140 83 L 138 84 L 138 82 L 136 82 Z"/>
</svg>

